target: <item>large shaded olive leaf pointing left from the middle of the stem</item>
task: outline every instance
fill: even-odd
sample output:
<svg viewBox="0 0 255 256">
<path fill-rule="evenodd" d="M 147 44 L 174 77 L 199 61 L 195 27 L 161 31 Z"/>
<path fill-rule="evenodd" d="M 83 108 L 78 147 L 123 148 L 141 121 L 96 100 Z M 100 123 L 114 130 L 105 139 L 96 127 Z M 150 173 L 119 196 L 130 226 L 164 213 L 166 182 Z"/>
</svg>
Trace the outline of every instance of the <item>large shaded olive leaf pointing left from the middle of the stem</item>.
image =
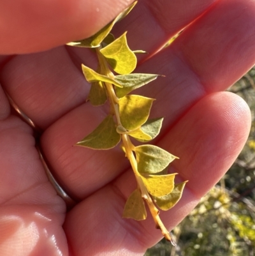
<svg viewBox="0 0 255 256">
<path fill-rule="evenodd" d="M 78 146 L 91 149 L 111 149 L 120 142 L 120 134 L 116 132 L 113 116 L 107 116 L 101 124 L 84 139 L 77 143 Z"/>
</svg>

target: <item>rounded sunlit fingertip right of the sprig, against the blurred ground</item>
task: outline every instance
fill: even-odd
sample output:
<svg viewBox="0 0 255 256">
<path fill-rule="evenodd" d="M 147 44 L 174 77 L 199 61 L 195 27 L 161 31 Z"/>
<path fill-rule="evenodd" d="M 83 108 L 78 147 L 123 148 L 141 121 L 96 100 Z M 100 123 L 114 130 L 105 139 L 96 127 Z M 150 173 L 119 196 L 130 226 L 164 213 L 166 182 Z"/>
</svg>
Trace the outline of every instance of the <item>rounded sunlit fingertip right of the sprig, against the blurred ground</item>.
<svg viewBox="0 0 255 256">
<path fill-rule="evenodd" d="M 189 180 L 187 187 L 197 197 L 230 169 L 250 128 L 247 103 L 237 94 L 220 92 L 201 99 L 168 133 L 167 144 L 182 159 L 172 166 L 183 180 Z"/>
</svg>

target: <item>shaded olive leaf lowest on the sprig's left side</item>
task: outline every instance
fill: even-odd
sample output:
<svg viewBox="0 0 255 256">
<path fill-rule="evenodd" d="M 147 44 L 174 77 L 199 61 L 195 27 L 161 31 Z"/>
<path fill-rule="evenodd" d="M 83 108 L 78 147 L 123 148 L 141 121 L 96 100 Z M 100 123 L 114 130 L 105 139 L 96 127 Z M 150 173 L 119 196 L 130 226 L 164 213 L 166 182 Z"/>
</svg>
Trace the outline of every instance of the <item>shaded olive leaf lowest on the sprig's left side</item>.
<svg viewBox="0 0 255 256">
<path fill-rule="evenodd" d="M 140 190 L 136 189 L 129 196 L 123 211 L 123 218 L 145 220 L 147 217 L 145 205 Z"/>
</svg>

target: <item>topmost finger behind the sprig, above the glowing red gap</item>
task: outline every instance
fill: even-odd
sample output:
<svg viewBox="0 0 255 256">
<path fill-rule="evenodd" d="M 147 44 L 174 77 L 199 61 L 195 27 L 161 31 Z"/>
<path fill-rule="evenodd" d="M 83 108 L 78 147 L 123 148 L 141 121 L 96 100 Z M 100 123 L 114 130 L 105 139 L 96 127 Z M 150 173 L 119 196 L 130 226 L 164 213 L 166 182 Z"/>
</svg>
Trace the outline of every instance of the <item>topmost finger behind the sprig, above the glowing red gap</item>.
<svg viewBox="0 0 255 256">
<path fill-rule="evenodd" d="M 133 50 L 145 50 L 147 54 L 138 56 L 144 59 L 161 49 L 172 36 L 198 19 L 217 2 L 219 1 L 138 1 L 134 10 L 115 25 L 113 34 L 120 36 L 125 27 L 125 31 L 128 31 L 129 46 Z"/>
</svg>

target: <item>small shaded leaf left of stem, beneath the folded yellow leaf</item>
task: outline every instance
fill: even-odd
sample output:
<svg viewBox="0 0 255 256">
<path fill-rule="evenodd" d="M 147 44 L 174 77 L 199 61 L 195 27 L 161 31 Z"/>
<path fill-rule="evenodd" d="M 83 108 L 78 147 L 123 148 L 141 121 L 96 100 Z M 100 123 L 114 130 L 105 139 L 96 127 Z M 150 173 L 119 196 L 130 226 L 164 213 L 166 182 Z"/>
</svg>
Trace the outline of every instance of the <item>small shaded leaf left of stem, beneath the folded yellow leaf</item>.
<svg viewBox="0 0 255 256">
<path fill-rule="evenodd" d="M 88 99 L 93 106 L 100 106 L 105 104 L 107 100 L 107 94 L 103 82 L 92 82 Z"/>
</svg>

